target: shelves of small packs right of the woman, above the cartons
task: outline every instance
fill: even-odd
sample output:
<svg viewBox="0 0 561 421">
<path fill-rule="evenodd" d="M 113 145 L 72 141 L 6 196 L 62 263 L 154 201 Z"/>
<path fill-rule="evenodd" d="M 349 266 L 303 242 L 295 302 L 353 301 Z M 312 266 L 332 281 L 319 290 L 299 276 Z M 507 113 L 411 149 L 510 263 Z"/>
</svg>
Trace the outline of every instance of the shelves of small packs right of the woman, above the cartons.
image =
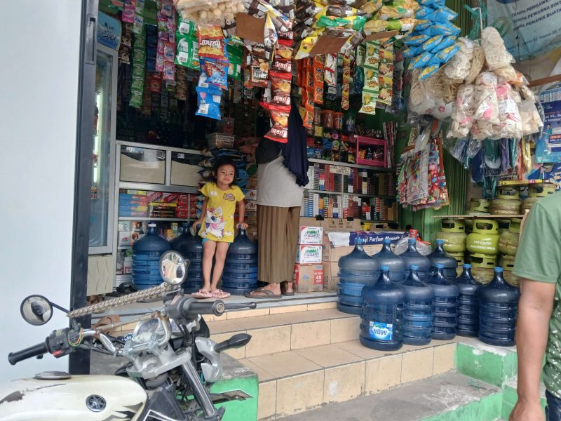
<svg viewBox="0 0 561 421">
<path fill-rule="evenodd" d="M 301 216 L 397 222 L 396 176 L 392 168 L 309 159 Z"/>
</svg>

